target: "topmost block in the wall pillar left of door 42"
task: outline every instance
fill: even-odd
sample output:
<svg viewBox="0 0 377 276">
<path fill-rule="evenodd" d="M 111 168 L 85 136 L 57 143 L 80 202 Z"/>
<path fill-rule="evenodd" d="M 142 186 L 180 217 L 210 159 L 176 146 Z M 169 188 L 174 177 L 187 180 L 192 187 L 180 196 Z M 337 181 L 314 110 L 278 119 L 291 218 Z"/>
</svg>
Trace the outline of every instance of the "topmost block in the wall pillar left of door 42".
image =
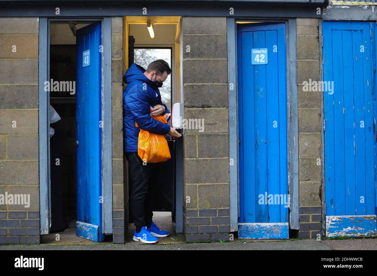
<svg viewBox="0 0 377 276">
<path fill-rule="evenodd" d="M 226 34 L 226 17 L 183 17 L 183 34 Z"/>
</svg>

